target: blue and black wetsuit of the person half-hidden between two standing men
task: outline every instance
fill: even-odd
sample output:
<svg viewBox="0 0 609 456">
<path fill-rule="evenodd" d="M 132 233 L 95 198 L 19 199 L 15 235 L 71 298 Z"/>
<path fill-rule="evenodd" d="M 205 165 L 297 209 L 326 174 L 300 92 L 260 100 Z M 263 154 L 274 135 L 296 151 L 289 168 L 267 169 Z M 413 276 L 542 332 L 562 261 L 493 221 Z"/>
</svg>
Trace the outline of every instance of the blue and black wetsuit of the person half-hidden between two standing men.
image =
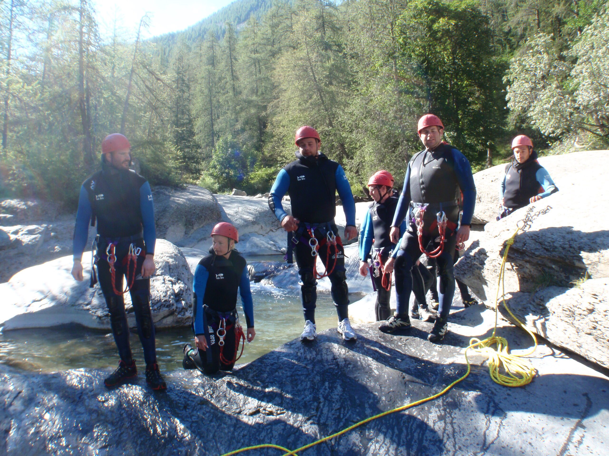
<svg viewBox="0 0 609 456">
<path fill-rule="evenodd" d="M 377 321 L 387 320 L 391 314 L 389 307 L 391 289 L 387 290 L 382 286 L 382 274 L 379 273 L 374 262 L 384 264 L 395 249 L 395 244 L 389 239 L 389 232 L 396 206 L 398 206 L 396 196 L 389 196 L 384 202 L 371 203 L 359 230 L 359 259 L 368 261 L 368 258 L 371 257 L 373 268 L 375 268 L 372 280 L 374 280 L 376 288 L 375 314 Z M 404 234 L 404 232 L 406 232 L 406 221 L 402 221 L 400 225 L 400 234 Z M 370 255 L 371 250 L 373 250 L 372 255 Z"/>
</svg>

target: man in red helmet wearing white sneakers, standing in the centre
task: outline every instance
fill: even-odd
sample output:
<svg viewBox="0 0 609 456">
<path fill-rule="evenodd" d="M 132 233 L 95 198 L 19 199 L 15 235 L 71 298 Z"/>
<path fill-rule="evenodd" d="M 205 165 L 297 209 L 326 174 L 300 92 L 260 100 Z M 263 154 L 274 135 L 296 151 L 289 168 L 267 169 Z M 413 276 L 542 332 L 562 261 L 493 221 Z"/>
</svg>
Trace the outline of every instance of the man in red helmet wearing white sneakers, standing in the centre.
<svg viewBox="0 0 609 456">
<path fill-rule="evenodd" d="M 294 232 L 291 242 L 302 283 L 300 298 L 305 313 L 305 328 L 300 339 L 306 341 L 317 337 L 316 280 L 328 277 L 339 316 L 338 332 L 345 340 L 356 340 L 357 335 L 349 321 L 345 252 L 334 223 L 338 192 L 347 218 L 345 238 L 349 241 L 357 236 L 351 187 L 343 168 L 320 152 L 322 142 L 314 128 L 298 128 L 294 142 L 298 147 L 296 160 L 279 171 L 270 190 L 269 207 L 283 229 Z M 290 196 L 292 215 L 287 215 L 281 205 L 286 192 Z M 325 266 L 325 271 L 321 274 L 316 266 L 318 255 Z"/>
</svg>

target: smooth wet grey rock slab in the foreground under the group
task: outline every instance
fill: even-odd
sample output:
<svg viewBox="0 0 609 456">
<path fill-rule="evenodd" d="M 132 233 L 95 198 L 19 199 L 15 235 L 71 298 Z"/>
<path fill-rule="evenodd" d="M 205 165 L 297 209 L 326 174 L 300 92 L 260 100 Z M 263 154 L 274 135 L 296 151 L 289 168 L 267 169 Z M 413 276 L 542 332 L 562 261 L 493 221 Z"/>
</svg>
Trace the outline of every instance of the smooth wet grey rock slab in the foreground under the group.
<svg viewBox="0 0 609 456">
<path fill-rule="evenodd" d="M 104 371 L 32 373 L 0 365 L 0 452 L 218 455 L 262 443 L 295 449 L 463 375 L 459 347 L 466 340 L 448 336 L 445 345 L 432 345 L 423 339 L 427 326 L 415 323 L 398 336 L 359 326 L 354 344 L 324 331 L 312 344 L 294 340 L 232 373 L 174 371 L 166 393 L 147 389 L 141 374 L 107 390 Z M 604 454 L 607 378 L 586 367 L 574 373 L 579 364 L 550 357 L 539 360 L 542 373 L 530 385 L 512 389 L 474 361 L 470 376 L 441 398 L 301 454 Z M 558 363 L 571 364 L 552 372 Z"/>
</svg>

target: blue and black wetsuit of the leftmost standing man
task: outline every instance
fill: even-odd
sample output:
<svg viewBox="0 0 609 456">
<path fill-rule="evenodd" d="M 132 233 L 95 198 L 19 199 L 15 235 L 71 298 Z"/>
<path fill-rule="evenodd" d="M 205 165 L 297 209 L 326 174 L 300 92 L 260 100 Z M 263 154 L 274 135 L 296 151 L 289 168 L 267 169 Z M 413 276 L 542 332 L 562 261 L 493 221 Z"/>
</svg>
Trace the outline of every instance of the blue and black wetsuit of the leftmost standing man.
<svg viewBox="0 0 609 456">
<path fill-rule="evenodd" d="M 110 312 L 110 325 L 119 356 L 132 364 L 129 326 L 122 294 L 123 277 L 133 284 L 130 288 L 139 340 L 144 347 L 146 364 L 157 362 L 155 328 L 150 311 L 150 278 L 141 275 L 146 254 L 154 254 L 157 232 L 150 184 L 130 170 L 116 170 L 102 161 L 102 170 L 85 179 L 80 188 L 76 227 L 74 228 L 74 259 L 82 258 L 88 237 L 89 223 L 97 221 L 97 275 Z M 114 287 L 106 250 L 114 245 Z M 130 246 L 139 254 L 135 271 L 125 264 Z"/>
</svg>

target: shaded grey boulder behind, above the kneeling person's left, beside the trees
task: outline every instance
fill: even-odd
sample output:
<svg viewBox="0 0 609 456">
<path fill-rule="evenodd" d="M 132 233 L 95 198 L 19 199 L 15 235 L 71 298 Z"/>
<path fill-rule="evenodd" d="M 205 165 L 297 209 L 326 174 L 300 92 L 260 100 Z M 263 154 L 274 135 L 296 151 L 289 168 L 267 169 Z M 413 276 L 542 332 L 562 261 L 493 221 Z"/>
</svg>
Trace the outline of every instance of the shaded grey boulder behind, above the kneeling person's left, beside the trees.
<svg viewBox="0 0 609 456">
<path fill-rule="evenodd" d="M 197 229 L 215 224 L 222 217 L 216 198 L 205 188 L 155 187 L 154 198 L 157 237 L 179 243 Z"/>
</svg>

